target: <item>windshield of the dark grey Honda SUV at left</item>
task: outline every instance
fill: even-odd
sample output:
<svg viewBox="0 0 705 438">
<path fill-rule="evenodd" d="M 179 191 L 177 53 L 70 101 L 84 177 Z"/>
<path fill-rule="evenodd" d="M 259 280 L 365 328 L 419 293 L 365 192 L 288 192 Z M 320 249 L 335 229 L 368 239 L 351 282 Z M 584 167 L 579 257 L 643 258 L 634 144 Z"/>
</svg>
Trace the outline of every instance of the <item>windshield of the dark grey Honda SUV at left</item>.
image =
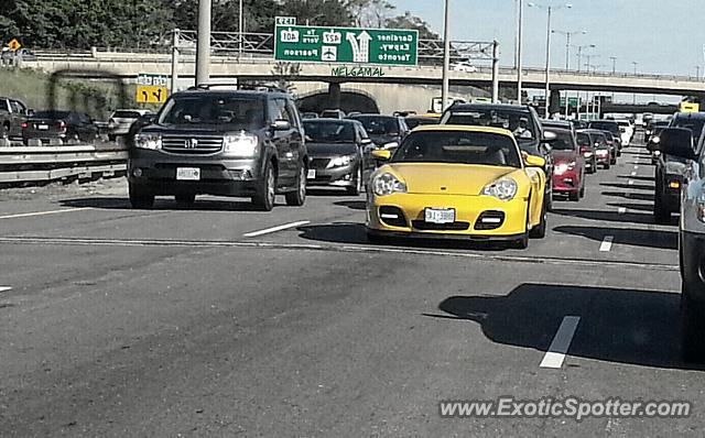
<svg viewBox="0 0 705 438">
<path fill-rule="evenodd" d="M 241 96 L 178 96 L 166 102 L 158 123 L 262 127 L 264 102 Z"/>
</svg>

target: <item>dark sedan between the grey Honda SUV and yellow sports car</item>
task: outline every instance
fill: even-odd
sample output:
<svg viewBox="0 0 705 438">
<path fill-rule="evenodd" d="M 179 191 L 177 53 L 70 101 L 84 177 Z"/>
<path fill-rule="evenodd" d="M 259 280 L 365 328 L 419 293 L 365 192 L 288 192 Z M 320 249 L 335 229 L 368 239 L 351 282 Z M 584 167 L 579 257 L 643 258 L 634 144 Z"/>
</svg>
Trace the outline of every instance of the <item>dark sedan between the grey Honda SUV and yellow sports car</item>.
<svg viewBox="0 0 705 438">
<path fill-rule="evenodd" d="M 359 195 L 375 169 L 372 141 L 355 120 L 304 120 L 306 147 L 311 157 L 307 185 L 345 187 Z"/>
</svg>

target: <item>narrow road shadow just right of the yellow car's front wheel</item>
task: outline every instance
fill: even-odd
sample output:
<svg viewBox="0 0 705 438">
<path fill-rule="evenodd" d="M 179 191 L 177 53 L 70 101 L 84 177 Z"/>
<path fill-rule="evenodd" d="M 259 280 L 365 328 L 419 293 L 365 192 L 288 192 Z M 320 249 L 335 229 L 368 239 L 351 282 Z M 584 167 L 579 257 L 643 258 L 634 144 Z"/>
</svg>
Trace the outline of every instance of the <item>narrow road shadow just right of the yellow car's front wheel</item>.
<svg viewBox="0 0 705 438">
<path fill-rule="evenodd" d="M 623 216 L 623 215 L 622 215 Z M 614 236 L 615 244 L 658 248 L 664 250 L 679 249 L 677 231 L 665 230 L 638 230 L 633 228 L 608 228 L 608 227 L 577 227 L 560 226 L 553 229 L 555 232 L 571 236 L 579 236 L 601 242 L 605 236 Z M 677 261 L 677 254 L 675 255 Z"/>
</svg>

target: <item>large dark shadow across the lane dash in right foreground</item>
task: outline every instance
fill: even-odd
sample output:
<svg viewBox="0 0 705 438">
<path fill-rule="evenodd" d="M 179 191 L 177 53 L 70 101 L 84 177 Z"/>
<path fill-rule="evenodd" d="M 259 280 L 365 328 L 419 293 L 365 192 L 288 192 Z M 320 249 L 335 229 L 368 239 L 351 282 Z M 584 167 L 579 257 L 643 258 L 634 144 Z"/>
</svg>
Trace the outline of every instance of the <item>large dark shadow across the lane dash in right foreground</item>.
<svg viewBox="0 0 705 438">
<path fill-rule="evenodd" d="M 425 316 L 475 321 L 492 342 L 546 351 L 574 315 L 581 321 L 570 357 L 703 371 L 680 359 L 679 300 L 660 291 L 522 284 L 506 296 L 452 296 L 438 305 L 441 315 Z"/>
</svg>

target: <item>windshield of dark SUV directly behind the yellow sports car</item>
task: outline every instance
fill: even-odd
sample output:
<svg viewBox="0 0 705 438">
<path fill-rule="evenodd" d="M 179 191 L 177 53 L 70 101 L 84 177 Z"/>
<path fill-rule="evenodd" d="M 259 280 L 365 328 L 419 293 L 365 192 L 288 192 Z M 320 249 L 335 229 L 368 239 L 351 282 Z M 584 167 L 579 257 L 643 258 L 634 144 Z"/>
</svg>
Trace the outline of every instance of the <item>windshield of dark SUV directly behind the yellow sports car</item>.
<svg viewBox="0 0 705 438">
<path fill-rule="evenodd" d="M 444 117 L 442 123 L 503 128 L 511 131 L 518 142 L 522 142 L 539 139 L 536 127 L 529 121 L 530 118 L 528 111 L 487 109 L 451 112 Z"/>
</svg>

